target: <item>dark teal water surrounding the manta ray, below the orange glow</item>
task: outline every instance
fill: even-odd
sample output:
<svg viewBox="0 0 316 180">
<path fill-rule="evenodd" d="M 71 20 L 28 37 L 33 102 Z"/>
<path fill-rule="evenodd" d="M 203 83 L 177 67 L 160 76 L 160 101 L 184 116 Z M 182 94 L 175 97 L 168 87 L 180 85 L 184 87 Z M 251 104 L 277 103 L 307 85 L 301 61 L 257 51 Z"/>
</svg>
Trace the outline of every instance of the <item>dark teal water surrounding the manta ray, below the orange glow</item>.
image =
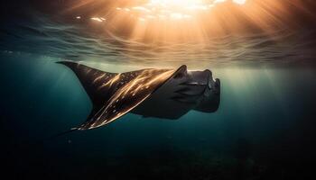
<svg viewBox="0 0 316 180">
<path fill-rule="evenodd" d="M 306 179 L 315 164 L 315 30 L 146 43 L 41 18 L 0 28 L 1 161 L 12 179 Z M 178 121 L 127 114 L 106 127 L 50 137 L 91 108 L 60 59 L 110 71 L 210 68 L 218 112 Z M 163 59 L 163 60 L 162 60 Z"/>
</svg>

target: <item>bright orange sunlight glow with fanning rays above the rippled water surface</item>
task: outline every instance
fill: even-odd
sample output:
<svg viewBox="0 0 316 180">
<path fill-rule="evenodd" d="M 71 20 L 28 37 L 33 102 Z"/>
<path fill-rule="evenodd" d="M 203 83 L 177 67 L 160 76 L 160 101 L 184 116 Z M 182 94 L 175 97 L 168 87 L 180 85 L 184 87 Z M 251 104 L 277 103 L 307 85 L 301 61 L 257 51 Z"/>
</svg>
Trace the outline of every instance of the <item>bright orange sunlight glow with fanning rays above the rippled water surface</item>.
<svg viewBox="0 0 316 180">
<path fill-rule="evenodd" d="M 86 14 L 86 19 L 106 23 L 105 33 L 125 40 L 203 41 L 228 33 L 270 34 L 298 25 L 290 7 L 308 13 L 300 0 L 86 0 L 67 12 L 76 12 L 77 21 Z"/>
</svg>

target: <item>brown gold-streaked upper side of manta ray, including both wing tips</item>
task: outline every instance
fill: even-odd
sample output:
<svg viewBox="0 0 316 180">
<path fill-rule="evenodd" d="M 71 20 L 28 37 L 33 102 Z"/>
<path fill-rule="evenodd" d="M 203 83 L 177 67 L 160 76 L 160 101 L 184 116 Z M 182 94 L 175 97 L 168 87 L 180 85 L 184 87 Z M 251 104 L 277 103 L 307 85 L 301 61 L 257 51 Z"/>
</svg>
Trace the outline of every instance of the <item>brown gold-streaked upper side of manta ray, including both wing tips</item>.
<svg viewBox="0 0 316 180">
<path fill-rule="evenodd" d="M 94 129 L 115 121 L 144 102 L 182 68 L 186 68 L 150 68 L 115 74 L 71 61 L 61 61 L 60 64 L 70 67 L 75 72 L 94 104 L 88 120 L 76 128 L 77 130 Z"/>
</svg>

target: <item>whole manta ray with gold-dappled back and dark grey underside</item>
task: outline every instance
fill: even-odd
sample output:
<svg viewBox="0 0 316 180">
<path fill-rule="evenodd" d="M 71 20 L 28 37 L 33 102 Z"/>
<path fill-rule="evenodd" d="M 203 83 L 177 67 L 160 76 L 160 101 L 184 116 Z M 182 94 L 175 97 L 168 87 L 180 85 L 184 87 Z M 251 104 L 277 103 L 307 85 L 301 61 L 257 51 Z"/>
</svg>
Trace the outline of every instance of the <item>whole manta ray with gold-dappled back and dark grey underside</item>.
<svg viewBox="0 0 316 180">
<path fill-rule="evenodd" d="M 188 71 L 182 65 L 178 69 L 110 73 L 74 61 L 57 63 L 70 67 L 93 104 L 87 120 L 71 130 L 95 129 L 127 112 L 177 120 L 191 110 L 218 110 L 220 82 L 209 69 Z"/>
</svg>

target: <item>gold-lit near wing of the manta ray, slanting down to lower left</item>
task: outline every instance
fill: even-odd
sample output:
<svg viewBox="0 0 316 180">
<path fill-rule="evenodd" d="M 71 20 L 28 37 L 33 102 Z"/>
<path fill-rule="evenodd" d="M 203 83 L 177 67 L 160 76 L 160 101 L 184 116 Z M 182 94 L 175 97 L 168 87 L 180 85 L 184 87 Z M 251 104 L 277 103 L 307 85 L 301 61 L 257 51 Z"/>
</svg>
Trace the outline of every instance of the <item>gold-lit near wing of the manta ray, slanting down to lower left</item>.
<svg viewBox="0 0 316 180">
<path fill-rule="evenodd" d="M 174 73 L 175 70 L 170 69 L 144 69 L 138 76 L 119 88 L 89 121 L 79 127 L 79 130 L 93 129 L 115 121 L 144 102 Z"/>
</svg>

